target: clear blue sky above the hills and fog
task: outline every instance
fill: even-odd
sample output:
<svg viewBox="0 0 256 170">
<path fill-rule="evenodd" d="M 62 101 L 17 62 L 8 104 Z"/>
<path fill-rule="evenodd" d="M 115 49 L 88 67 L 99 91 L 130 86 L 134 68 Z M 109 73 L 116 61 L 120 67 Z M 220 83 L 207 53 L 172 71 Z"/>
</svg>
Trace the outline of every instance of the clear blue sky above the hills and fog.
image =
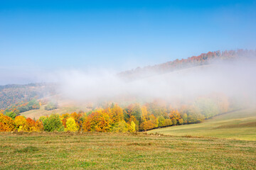
<svg viewBox="0 0 256 170">
<path fill-rule="evenodd" d="M 256 1 L 1 0 L 0 84 L 33 81 L 33 72 L 122 71 L 255 49 L 255 30 Z"/>
</svg>

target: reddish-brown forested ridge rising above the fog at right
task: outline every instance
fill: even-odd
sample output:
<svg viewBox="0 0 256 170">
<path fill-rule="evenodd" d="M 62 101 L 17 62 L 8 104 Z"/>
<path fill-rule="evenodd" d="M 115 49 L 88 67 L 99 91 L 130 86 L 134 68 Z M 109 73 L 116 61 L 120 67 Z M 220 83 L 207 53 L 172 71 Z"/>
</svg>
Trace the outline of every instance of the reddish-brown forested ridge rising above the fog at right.
<svg viewBox="0 0 256 170">
<path fill-rule="evenodd" d="M 119 73 L 119 76 L 132 80 L 149 77 L 152 74 L 162 74 L 166 72 L 173 72 L 178 69 L 186 69 L 189 67 L 197 67 L 200 65 L 211 64 L 215 60 L 238 60 L 240 58 L 247 59 L 256 56 L 256 50 L 225 50 L 202 53 L 198 56 L 188 57 L 187 59 L 174 60 L 154 66 L 147 66 L 144 68 L 137 67 L 136 69 L 128 70 Z"/>
</svg>

